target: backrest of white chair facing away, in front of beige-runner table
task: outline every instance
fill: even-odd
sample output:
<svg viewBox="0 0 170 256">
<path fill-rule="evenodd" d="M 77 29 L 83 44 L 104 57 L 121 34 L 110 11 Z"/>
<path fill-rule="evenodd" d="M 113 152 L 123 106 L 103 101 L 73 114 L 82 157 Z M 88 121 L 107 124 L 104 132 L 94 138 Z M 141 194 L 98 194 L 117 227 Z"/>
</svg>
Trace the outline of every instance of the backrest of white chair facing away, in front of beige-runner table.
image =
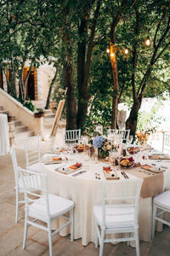
<svg viewBox="0 0 170 256">
<path fill-rule="evenodd" d="M 119 180 L 111 182 L 101 182 L 101 198 L 102 198 L 102 225 L 105 227 L 105 218 L 110 215 L 110 218 L 117 218 L 117 212 L 106 212 L 105 206 L 116 207 L 133 207 L 133 223 L 138 223 L 139 213 L 139 195 L 143 183 L 142 178 L 133 181 L 120 182 Z M 126 211 L 122 215 L 126 219 Z M 111 216 L 112 215 L 112 216 Z"/>
</svg>

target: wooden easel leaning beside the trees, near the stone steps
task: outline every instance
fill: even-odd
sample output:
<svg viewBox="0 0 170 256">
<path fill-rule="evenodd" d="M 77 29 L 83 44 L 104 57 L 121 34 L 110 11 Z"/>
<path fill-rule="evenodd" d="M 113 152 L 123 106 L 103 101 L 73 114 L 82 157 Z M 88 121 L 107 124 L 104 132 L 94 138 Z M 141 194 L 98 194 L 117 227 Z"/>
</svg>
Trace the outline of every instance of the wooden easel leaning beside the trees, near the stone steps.
<svg viewBox="0 0 170 256">
<path fill-rule="evenodd" d="M 66 92 L 67 92 L 67 88 L 65 89 L 65 95 L 66 95 Z M 63 112 L 64 106 L 65 106 L 65 99 L 59 101 L 59 105 L 55 113 L 54 125 L 50 133 L 50 144 L 48 148 L 49 151 L 53 151 L 54 149 L 55 136 L 56 136 L 57 129 L 59 127 L 59 119 L 61 117 L 61 113 Z"/>
</svg>

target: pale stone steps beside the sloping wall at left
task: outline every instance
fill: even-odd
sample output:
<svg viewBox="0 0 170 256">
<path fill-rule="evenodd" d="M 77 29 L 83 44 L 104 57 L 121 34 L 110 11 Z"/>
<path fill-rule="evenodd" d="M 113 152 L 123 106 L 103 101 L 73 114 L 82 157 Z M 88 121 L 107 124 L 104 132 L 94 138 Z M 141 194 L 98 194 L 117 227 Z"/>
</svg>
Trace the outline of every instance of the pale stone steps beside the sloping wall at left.
<svg viewBox="0 0 170 256">
<path fill-rule="evenodd" d="M 0 113 L 12 115 L 12 112 L 3 109 L 3 106 L 0 106 Z M 28 127 L 22 125 L 20 120 L 16 119 L 14 116 L 12 122 L 14 123 L 14 143 L 20 143 L 22 138 L 34 136 L 34 131 L 28 130 Z"/>
</svg>

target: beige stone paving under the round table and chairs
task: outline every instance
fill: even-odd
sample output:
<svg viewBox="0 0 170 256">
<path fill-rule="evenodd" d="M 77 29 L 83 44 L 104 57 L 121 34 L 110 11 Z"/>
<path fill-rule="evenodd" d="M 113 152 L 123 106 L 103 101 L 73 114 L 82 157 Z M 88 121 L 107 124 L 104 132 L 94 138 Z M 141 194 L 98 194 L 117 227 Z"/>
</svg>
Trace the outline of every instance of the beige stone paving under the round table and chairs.
<svg viewBox="0 0 170 256">
<path fill-rule="evenodd" d="M 46 151 L 47 143 L 41 143 L 42 154 Z M 25 167 L 26 157 L 24 150 L 17 148 L 19 166 Z M 22 249 L 24 230 L 24 207 L 20 207 L 19 223 L 14 223 L 15 194 L 14 171 L 10 154 L 0 157 L 0 256 L 39 256 L 48 255 L 48 233 L 30 227 L 26 250 Z M 170 230 L 164 226 L 162 232 L 156 232 L 156 238 L 150 241 L 140 241 L 141 256 L 169 256 Z M 70 236 L 53 237 L 54 256 L 97 256 L 99 248 L 94 243 L 87 247 L 82 246 L 81 239 L 71 242 Z M 133 256 L 136 251 L 122 242 L 117 245 L 105 244 L 104 256 Z"/>
</svg>

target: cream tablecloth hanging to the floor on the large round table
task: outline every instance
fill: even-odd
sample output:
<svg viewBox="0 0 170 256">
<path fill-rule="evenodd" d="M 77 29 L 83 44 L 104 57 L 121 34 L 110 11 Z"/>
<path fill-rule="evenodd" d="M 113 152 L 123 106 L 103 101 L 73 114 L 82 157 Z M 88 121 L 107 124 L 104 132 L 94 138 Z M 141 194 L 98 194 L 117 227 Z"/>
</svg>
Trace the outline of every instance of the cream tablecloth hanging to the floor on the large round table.
<svg viewBox="0 0 170 256">
<path fill-rule="evenodd" d="M 77 157 L 72 163 L 75 164 Z M 80 161 L 80 160 L 78 160 Z M 163 166 L 169 163 L 163 163 Z M 99 180 L 95 178 L 95 172 L 100 173 L 101 179 L 105 179 L 103 173 L 104 163 L 93 164 L 90 162 L 83 162 L 82 170 L 87 172 L 72 177 L 74 174 L 61 174 L 54 172 L 57 165 L 44 165 L 42 164 L 42 172 L 48 173 L 48 190 L 50 193 L 60 195 L 65 198 L 71 199 L 75 202 L 76 207 L 74 211 L 74 238 L 82 237 L 82 245 L 86 246 L 88 242 L 94 241 L 94 205 L 101 203 Z M 120 182 L 127 181 L 122 177 L 121 172 L 118 171 Z M 138 179 L 127 173 L 129 180 Z M 114 183 L 114 181 L 111 181 Z M 164 172 L 164 189 L 170 189 L 170 170 Z M 140 198 L 139 201 L 139 239 L 149 241 L 151 239 L 151 225 L 152 225 L 152 198 Z M 65 236 L 69 233 L 69 228 L 60 233 Z"/>
</svg>

